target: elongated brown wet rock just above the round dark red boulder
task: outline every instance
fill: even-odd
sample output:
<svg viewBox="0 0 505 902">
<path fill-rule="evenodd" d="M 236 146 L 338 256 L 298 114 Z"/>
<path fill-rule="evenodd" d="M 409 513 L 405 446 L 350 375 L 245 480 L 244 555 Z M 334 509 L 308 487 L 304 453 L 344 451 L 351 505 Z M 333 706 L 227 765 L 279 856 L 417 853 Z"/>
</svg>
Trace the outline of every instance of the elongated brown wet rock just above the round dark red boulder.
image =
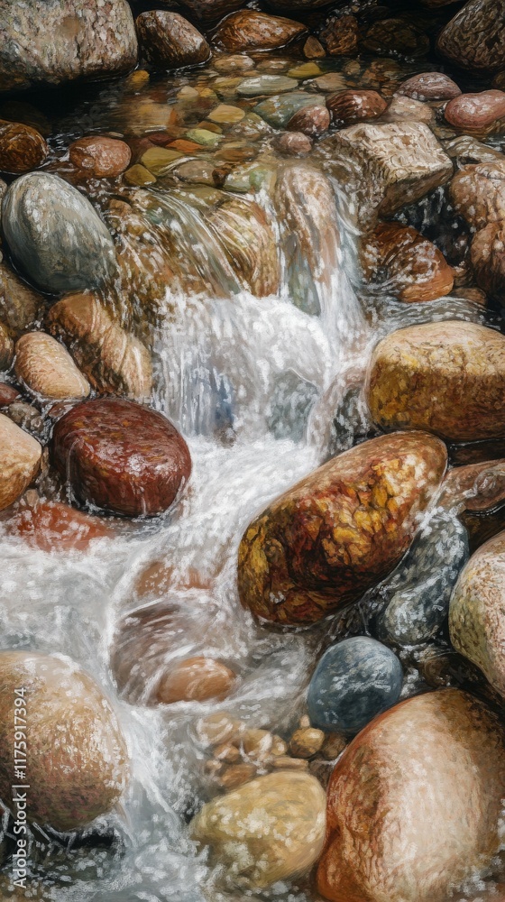
<svg viewBox="0 0 505 902">
<path fill-rule="evenodd" d="M 151 354 L 126 332 L 93 294 L 76 294 L 50 308 L 50 332 L 63 339 L 98 391 L 149 400 L 152 391 Z"/>
</svg>

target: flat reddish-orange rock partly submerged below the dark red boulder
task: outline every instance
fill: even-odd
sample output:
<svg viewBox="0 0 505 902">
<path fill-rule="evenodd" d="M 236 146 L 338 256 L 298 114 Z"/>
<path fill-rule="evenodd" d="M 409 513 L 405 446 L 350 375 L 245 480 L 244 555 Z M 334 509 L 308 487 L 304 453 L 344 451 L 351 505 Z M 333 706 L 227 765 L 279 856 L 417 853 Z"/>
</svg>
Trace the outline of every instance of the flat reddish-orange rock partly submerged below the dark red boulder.
<svg viewBox="0 0 505 902">
<path fill-rule="evenodd" d="M 5 529 L 41 551 L 85 551 L 93 539 L 114 536 L 114 529 L 106 520 L 76 511 L 68 504 L 39 498 L 23 502 L 7 520 Z"/>
</svg>

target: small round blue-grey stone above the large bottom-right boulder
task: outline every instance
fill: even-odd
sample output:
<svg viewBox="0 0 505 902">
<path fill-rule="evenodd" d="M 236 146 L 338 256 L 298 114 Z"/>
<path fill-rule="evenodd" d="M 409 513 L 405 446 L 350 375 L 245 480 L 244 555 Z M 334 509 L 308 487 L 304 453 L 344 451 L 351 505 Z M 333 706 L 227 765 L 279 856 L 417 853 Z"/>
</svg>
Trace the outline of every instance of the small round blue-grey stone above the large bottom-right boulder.
<svg viewBox="0 0 505 902">
<path fill-rule="evenodd" d="M 326 732 L 355 733 L 399 700 L 403 671 L 396 655 L 368 636 L 327 649 L 308 686 L 310 723 Z"/>
</svg>

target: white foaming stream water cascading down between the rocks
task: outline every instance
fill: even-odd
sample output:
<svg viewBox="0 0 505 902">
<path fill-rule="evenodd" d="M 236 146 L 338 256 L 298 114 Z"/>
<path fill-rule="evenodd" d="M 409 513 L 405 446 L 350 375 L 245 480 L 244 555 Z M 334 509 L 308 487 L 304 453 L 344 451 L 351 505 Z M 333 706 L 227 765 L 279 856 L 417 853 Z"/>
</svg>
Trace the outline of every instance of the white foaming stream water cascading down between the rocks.
<svg viewBox="0 0 505 902">
<path fill-rule="evenodd" d="M 205 77 L 202 70 L 194 78 L 201 84 Z M 159 89 L 171 96 L 184 84 L 191 84 L 191 78 L 173 78 L 169 84 L 165 80 Z M 154 103 L 147 91 L 135 101 L 139 117 L 142 103 Z M 97 90 L 61 119 L 56 156 L 79 132 L 106 128 L 121 133 L 124 116 L 119 87 Z M 276 166 L 292 165 L 311 163 L 276 161 Z M 358 230 L 346 213 L 344 186 L 330 181 L 330 189 L 339 210 L 335 230 L 320 229 L 316 208 L 308 244 L 298 248 L 295 266 L 284 241 L 287 223 L 275 211 L 269 191 L 254 195 L 271 218 L 280 248 L 280 290 L 264 298 L 253 296 L 237 280 L 219 235 L 208 226 L 205 204 L 162 182 L 137 192 L 143 198 L 144 233 L 152 235 L 155 246 L 161 232 L 170 231 L 187 272 L 197 272 L 205 286 L 188 291 L 174 282 L 165 296 L 156 298 L 156 325 L 150 333 L 156 373 L 153 404 L 187 438 L 193 473 L 166 517 L 125 525 L 86 553 L 49 553 L 28 548 L 21 538 L 2 537 L 2 648 L 39 649 L 81 663 L 113 699 L 132 759 L 131 785 L 112 815 L 84 834 L 33 835 L 32 882 L 23 898 L 255 898 L 223 888 L 222 875 L 209 868 L 205 854 L 198 855 L 188 839 L 189 817 L 214 793 L 197 723 L 203 714 L 221 708 L 251 726 L 289 732 L 304 711 L 308 678 L 328 636 L 323 628 L 262 629 L 243 610 L 236 591 L 243 529 L 267 502 L 327 456 L 372 435 L 363 380 L 379 337 L 399 325 L 428 319 L 463 318 L 492 325 L 491 315 L 457 297 L 407 306 L 388 297 L 384 286 L 380 293 L 365 293 L 356 264 Z M 317 198 L 308 199 L 309 205 L 317 205 Z M 306 280 L 301 289 L 297 273 Z M 304 291 L 311 299 L 309 309 L 298 303 Z M 137 321 L 137 314 L 125 310 L 124 318 Z M 455 513 L 445 517 L 454 522 Z M 427 536 L 429 532 L 427 524 Z M 426 576 L 427 567 L 433 566 L 429 554 L 423 557 L 427 540 L 421 538 L 416 558 L 419 578 L 423 568 Z M 457 536 L 454 543 L 457 546 Z M 449 554 L 450 539 L 445 550 Z M 154 580 L 146 589 L 139 577 L 156 562 L 162 562 L 169 578 L 158 588 Z M 402 586 L 409 590 L 411 562 L 391 578 L 391 592 L 398 594 Z M 383 596 L 375 597 L 381 601 Z M 127 675 L 123 691 L 118 690 L 111 656 L 119 656 L 117 672 L 124 655 L 142 650 L 142 641 L 135 646 L 127 633 L 117 638 L 118 623 L 136 609 L 148 616 L 150 606 L 158 602 L 170 605 L 179 641 L 155 662 L 152 681 L 160 660 L 205 653 L 239 674 L 230 699 L 221 704 L 150 706 L 143 704 L 150 686 L 135 682 L 134 674 Z M 351 619 L 347 630 L 367 628 L 366 604 L 356 610 L 359 622 L 356 626 Z M 414 691 L 419 681 L 408 660 L 407 666 L 404 694 Z M 7 822 L 4 827 L 8 843 Z M 11 897 L 8 864 L 3 880 L 5 897 Z M 479 892 L 477 885 L 465 897 L 480 897 Z M 262 897 L 305 902 L 314 898 L 314 890 L 298 880 L 276 884 Z"/>
</svg>

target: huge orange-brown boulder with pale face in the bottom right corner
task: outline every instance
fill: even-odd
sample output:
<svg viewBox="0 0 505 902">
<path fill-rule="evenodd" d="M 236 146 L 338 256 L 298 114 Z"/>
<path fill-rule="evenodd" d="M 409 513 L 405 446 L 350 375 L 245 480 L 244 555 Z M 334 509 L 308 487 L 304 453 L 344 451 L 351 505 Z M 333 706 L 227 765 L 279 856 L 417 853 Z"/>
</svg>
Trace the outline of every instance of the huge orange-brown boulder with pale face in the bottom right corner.
<svg viewBox="0 0 505 902">
<path fill-rule="evenodd" d="M 442 902 L 499 848 L 504 783 L 500 721 L 473 696 L 445 689 L 381 714 L 330 779 L 319 892 Z"/>
</svg>

